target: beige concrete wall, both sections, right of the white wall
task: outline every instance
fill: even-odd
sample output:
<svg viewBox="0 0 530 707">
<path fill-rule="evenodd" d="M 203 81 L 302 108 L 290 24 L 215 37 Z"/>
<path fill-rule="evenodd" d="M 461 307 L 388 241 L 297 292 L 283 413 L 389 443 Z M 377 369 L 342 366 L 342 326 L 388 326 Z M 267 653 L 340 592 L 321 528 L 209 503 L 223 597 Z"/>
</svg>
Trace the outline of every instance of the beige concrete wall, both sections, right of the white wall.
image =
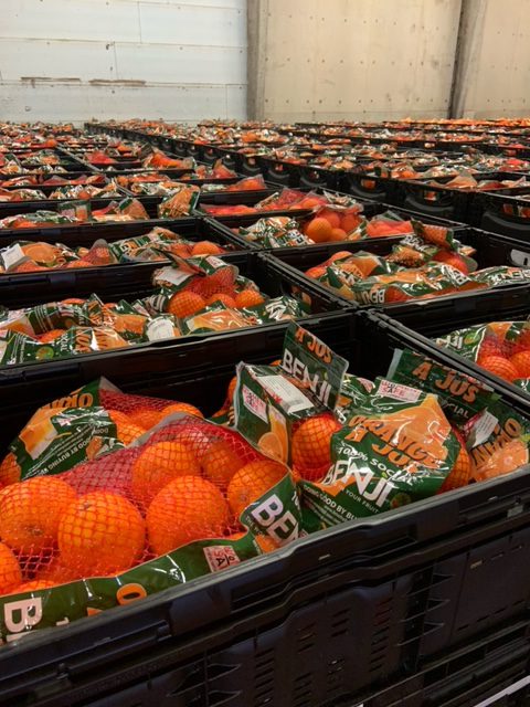
<svg viewBox="0 0 530 707">
<path fill-rule="evenodd" d="M 528 116 L 529 13 L 530 0 L 248 0 L 250 116 Z"/>
</svg>

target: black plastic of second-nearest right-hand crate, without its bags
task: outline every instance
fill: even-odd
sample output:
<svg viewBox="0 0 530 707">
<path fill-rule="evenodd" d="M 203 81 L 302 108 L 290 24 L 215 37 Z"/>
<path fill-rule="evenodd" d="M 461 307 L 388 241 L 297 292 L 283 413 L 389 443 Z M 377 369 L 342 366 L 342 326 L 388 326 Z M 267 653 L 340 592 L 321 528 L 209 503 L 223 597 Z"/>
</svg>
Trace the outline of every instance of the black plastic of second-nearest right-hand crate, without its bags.
<svg viewBox="0 0 530 707">
<path fill-rule="evenodd" d="M 457 232 L 458 240 L 476 249 L 476 253 L 473 256 L 477 263 L 478 268 L 491 267 L 494 265 L 516 265 L 526 266 L 530 264 L 530 252 L 524 250 L 522 243 L 518 243 L 512 239 L 505 239 L 494 233 L 486 233 L 479 229 L 463 228 Z M 273 260 L 279 260 L 284 263 L 285 267 L 290 273 L 299 273 L 307 271 L 309 267 L 320 265 L 325 260 L 330 257 L 338 251 L 350 251 L 357 253 L 358 251 L 368 251 L 370 253 L 377 253 L 378 255 L 386 255 L 392 251 L 393 245 L 399 242 L 399 238 L 388 239 L 364 239 L 361 241 L 352 242 L 338 242 L 332 244 L 321 243 L 318 246 L 310 247 L 285 247 L 277 249 L 263 253 L 263 257 Z M 318 287 L 328 289 L 324 285 L 317 283 Z M 521 291 L 530 289 L 528 284 L 517 285 L 517 288 Z M 332 291 L 331 291 L 332 292 Z M 496 291 L 500 292 L 500 289 Z M 430 316 L 431 309 L 436 310 L 436 307 L 441 306 L 439 303 L 455 302 L 455 307 L 460 308 L 462 312 L 473 310 L 484 297 L 490 295 L 491 291 L 468 291 L 462 293 L 454 293 L 448 295 L 442 295 L 425 299 L 410 299 L 403 303 L 374 305 L 373 303 L 367 306 L 384 309 L 390 316 L 396 317 L 401 320 L 402 317 L 409 316 L 410 313 L 425 310 L 425 316 Z M 339 296 L 339 295 L 338 295 Z M 352 303 L 344 298 L 344 303 Z M 443 305 L 442 305 L 443 306 Z"/>
</svg>

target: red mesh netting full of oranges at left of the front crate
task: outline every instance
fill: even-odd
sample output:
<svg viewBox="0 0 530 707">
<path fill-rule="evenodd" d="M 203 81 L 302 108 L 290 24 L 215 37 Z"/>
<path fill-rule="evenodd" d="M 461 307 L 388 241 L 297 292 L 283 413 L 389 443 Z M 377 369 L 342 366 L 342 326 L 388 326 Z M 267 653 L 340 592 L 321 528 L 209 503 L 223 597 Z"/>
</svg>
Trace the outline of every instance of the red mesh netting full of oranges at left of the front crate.
<svg viewBox="0 0 530 707">
<path fill-rule="evenodd" d="M 118 428 L 168 408 L 102 397 Z M 241 513 L 285 474 L 237 433 L 180 414 L 139 445 L 11 484 L 0 492 L 0 593 L 115 576 L 194 540 L 237 539 Z"/>
</svg>

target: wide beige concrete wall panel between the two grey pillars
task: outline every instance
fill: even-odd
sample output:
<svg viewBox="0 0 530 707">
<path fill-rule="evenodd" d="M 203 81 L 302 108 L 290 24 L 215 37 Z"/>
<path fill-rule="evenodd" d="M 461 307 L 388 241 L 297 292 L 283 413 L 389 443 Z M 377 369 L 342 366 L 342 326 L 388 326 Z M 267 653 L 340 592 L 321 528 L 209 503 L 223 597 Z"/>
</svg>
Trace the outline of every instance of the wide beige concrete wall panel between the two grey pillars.
<svg viewBox="0 0 530 707">
<path fill-rule="evenodd" d="M 460 0 L 250 0 L 248 13 L 258 117 L 446 115 Z"/>
</svg>

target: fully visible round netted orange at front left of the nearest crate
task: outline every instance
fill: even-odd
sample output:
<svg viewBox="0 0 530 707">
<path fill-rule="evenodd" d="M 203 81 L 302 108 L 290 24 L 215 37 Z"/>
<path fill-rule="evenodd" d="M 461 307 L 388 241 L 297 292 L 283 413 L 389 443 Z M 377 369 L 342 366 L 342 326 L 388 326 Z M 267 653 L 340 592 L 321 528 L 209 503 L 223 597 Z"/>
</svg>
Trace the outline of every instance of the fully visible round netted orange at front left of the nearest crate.
<svg viewBox="0 0 530 707">
<path fill-rule="evenodd" d="M 142 556 L 146 527 L 127 498 L 106 490 L 80 496 L 59 524 L 59 550 L 66 568 L 82 577 L 129 569 Z"/>
</svg>

